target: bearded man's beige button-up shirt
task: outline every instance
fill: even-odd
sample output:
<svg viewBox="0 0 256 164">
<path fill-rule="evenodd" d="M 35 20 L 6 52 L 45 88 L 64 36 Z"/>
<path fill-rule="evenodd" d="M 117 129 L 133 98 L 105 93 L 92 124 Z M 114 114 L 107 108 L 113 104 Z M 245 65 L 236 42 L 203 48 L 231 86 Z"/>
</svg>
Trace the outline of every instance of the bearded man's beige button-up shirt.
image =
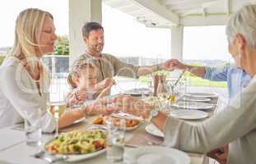
<svg viewBox="0 0 256 164">
<path fill-rule="evenodd" d="M 98 82 L 105 78 L 112 78 L 114 75 L 137 78 L 138 66 L 129 65 L 121 62 L 117 57 L 103 53 L 101 57 L 91 57 L 88 54 L 82 54 L 75 62 L 91 60 L 97 67 Z M 73 63 L 75 63 L 73 62 Z"/>
</svg>

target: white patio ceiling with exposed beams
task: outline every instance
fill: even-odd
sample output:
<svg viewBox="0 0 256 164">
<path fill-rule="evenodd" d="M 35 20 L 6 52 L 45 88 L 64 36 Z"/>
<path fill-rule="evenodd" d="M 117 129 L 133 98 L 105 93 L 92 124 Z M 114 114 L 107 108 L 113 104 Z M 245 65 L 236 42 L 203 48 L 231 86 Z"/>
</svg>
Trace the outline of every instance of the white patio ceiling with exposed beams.
<svg viewBox="0 0 256 164">
<path fill-rule="evenodd" d="M 231 13 L 252 0 L 103 0 L 148 27 L 225 25 Z"/>
</svg>

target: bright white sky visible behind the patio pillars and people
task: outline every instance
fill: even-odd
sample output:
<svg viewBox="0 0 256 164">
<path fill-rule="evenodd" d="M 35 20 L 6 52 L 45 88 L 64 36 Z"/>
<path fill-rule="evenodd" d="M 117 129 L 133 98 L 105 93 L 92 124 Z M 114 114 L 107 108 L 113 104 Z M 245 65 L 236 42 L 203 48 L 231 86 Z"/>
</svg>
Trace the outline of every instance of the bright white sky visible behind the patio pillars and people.
<svg viewBox="0 0 256 164">
<path fill-rule="evenodd" d="M 14 5 L 15 4 L 15 5 Z M 68 0 L 7 0 L 0 6 L 0 48 L 12 46 L 18 13 L 27 7 L 39 7 L 54 15 L 56 33 L 68 35 Z M 117 57 L 170 58 L 170 29 L 147 28 L 133 16 L 103 4 L 105 48 Z M 184 59 L 230 61 L 225 26 L 185 27 Z"/>
</svg>

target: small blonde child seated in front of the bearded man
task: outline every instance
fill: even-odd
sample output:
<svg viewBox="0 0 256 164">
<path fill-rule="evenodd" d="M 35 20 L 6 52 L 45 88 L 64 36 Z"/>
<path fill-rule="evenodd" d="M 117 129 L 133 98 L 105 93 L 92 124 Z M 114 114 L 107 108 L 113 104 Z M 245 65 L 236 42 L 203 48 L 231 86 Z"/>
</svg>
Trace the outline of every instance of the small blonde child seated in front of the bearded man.
<svg viewBox="0 0 256 164">
<path fill-rule="evenodd" d="M 103 98 L 109 93 L 114 80 L 106 78 L 97 83 L 97 68 L 90 61 L 78 61 L 67 75 L 67 83 L 72 91 L 67 94 L 67 106 L 80 105 L 86 100 Z"/>
</svg>

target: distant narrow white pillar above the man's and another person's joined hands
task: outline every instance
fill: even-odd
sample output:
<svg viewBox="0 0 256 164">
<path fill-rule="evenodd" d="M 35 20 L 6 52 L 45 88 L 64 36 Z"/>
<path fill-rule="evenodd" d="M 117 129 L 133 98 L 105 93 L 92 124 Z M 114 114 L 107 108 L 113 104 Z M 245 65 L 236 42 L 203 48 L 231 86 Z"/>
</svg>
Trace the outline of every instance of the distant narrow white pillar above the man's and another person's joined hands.
<svg viewBox="0 0 256 164">
<path fill-rule="evenodd" d="M 177 26 L 171 28 L 171 57 L 183 59 L 183 26 Z"/>
</svg>

